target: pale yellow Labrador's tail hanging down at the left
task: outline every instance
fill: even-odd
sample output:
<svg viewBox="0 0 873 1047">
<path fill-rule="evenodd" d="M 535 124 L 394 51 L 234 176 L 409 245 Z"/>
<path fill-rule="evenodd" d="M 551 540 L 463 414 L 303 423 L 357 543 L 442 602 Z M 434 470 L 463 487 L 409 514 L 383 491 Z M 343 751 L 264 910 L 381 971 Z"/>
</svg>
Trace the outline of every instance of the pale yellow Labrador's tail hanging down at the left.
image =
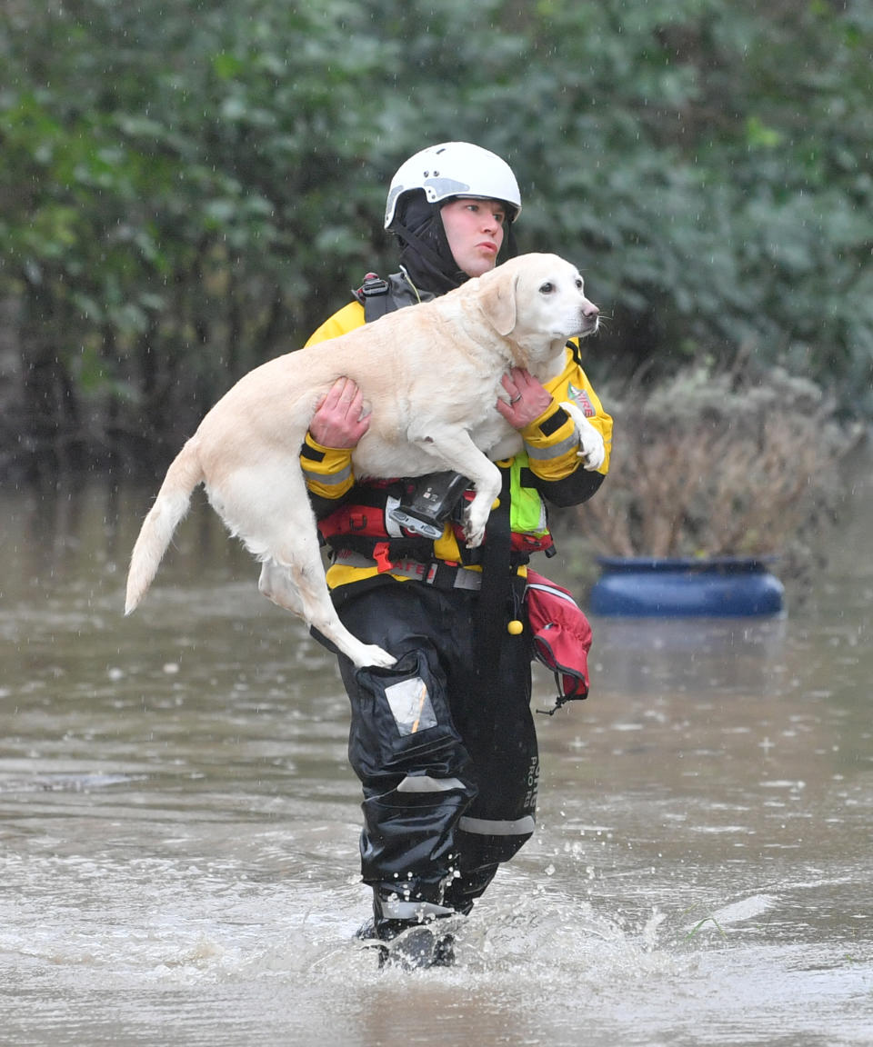
<svg viewBox="0 0 873 1047">
<path fill-rule="evenodd" d="M 189 440 L 167 470 L 133 547 L 127 576 L 125 615 L 134 610 L 149 591 L 173 532 L 188 512 L 191 495 L 203 478 L 197 445 L 194 440 Z"/>
</svg>

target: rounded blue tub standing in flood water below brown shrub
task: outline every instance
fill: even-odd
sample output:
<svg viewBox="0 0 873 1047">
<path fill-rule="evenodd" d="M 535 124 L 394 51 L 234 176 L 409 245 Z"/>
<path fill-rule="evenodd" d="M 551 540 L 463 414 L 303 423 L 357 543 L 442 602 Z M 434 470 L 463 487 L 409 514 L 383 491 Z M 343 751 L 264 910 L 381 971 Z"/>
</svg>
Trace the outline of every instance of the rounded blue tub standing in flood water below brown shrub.
<svg viewBox="0 0 873 1047">
<path fill-rule="evenodd" d="M 636 618 L 740 618 L 780 615 L 782 582 L 760 557 L 598 558 L 592 615 Z"/>
</svg>

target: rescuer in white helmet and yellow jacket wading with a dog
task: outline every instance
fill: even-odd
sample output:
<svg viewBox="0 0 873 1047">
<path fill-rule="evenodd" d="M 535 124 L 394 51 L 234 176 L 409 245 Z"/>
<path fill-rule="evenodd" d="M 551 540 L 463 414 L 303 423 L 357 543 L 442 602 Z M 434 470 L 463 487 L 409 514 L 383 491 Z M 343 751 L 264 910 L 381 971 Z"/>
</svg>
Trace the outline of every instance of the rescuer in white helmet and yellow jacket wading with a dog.
<svg viewBox="0 0 873 1047">
<path fill-rule="evenodd" d="M 399 271 L 386 281 L 371 275 L 309 344 L 487 272 L 521 209 L 515 175 L 494 153 L 467 142 L 417 153 L 394 176 L 385 214 Z M 534 828 L 526 563 L 533 552 L 553 551 L 543 499 L 577 505 L 601 486 L 612 420 L 572 343 L 547 386 L 519 369 L 502 382 L 508 403 L 498 399 L 496 409 L 519 430 L 524 451 L 498 463 L 503 493 L 480 550 L 463 542 L 463 498 L 444 521 L 415 515 L 416 497 L 427 510 L 446 492 L 457 496 L 466 486 L 457 476 L 355 482 L 352 450 L 369 420 L 351 381 L 330 389 L 302 448 L 340 616 L 365 643 L 397 658 L 391 669 L 355 670 L 340 655 L 351 700 L 349 759 L 364 790 L 362 874 L 373 890 L 373 919 L 361 935 L 378 944 L 381 962 L 451 963 L 453 934 L 442 929 L 454 923 L 435 921 L 467 914 Z M 606 441 L 596 471 L 576 454 L 579 437 L 560 406 L 568 399 Z"/>
</svg>

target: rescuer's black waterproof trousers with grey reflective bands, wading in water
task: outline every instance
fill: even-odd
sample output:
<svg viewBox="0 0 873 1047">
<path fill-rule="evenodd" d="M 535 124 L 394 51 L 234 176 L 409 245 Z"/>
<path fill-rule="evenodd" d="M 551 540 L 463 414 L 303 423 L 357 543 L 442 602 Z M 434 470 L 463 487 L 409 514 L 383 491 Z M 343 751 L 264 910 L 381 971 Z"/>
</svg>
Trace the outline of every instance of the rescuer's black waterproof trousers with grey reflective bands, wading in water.
<svg viewBox="0 0 873 1047">
<path fill-rule="evenodd" d="M 502 631 L 496 678 L 483 684 L 478 603 L 477 592 L 409 581 L 340 607 L 356 637 L 397 658 L 391 669 L 358 670 L 340 656 L 377 934 L 468 912 L 533 831 L 529 630 Z"/>
</svg>

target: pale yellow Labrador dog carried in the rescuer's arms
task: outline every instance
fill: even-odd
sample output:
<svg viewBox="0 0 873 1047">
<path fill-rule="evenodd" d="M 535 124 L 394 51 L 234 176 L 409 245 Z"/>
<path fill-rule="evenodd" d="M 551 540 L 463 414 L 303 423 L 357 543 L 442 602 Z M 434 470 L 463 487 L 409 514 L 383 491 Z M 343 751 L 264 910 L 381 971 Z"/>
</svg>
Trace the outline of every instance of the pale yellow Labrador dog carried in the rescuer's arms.
<svg viewBox="0 0 873 1047">
<path fill-rule="evenodd" d="M 476 495 L 465 538 L 478 545 L 500 492 L 494 461 L 522 447 L 495 407 L 510 367 L 541 382 L 564 366 L 572 335 L 597 329 L 577 270 L 554 254 L 524 254 L 434 302 L 256 367 L 210 410 L 170 466 L 133 549 L 126 614 L 146 595 L 191 495 L 204 484 L 232 535 L 263 563 L 260 586 L 357 666 L 394 659 L 356 640 L 330 601 L 315 519 L 299 464 L 317 404 L 335 379 L 361 388 L 370 427 L 352 453 L 354 474 L 419 476 L 452 470 Z M 604 461 L 601 433 L 575 404 L 563 407 L 588 469 Z M 493 460 L 493 461 L 489 461 Z"/>
</svg>

